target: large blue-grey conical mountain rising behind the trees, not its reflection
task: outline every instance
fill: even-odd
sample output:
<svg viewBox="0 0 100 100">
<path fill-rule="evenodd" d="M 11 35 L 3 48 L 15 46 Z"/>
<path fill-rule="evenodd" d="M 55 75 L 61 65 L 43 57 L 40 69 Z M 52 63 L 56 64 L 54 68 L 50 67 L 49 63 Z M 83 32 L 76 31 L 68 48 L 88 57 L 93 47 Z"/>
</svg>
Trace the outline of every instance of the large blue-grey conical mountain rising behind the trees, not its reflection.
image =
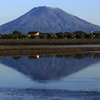
<svg viewBox="0 0 100 100">
<path fill-rule="evenodd" d="M 40 32 L 100 31 L 100 26 L 91 24 L 59 8 L 36 7 L 25 15 L 1 26 L 4 33 L 19 30 Z"/>
</svg>

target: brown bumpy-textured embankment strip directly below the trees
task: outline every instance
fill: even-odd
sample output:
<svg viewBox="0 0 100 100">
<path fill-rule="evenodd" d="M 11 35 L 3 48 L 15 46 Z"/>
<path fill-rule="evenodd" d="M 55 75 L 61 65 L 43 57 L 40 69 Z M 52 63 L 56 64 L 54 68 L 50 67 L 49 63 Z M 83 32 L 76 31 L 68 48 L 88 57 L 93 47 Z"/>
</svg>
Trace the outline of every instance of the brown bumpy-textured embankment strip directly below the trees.
<svg viewBox="0 0 100 100">
<path fill-rule="evenodd" d="M 0 45 L 91 45 L 100 39 L 0 39 Z"/>
</svg>

